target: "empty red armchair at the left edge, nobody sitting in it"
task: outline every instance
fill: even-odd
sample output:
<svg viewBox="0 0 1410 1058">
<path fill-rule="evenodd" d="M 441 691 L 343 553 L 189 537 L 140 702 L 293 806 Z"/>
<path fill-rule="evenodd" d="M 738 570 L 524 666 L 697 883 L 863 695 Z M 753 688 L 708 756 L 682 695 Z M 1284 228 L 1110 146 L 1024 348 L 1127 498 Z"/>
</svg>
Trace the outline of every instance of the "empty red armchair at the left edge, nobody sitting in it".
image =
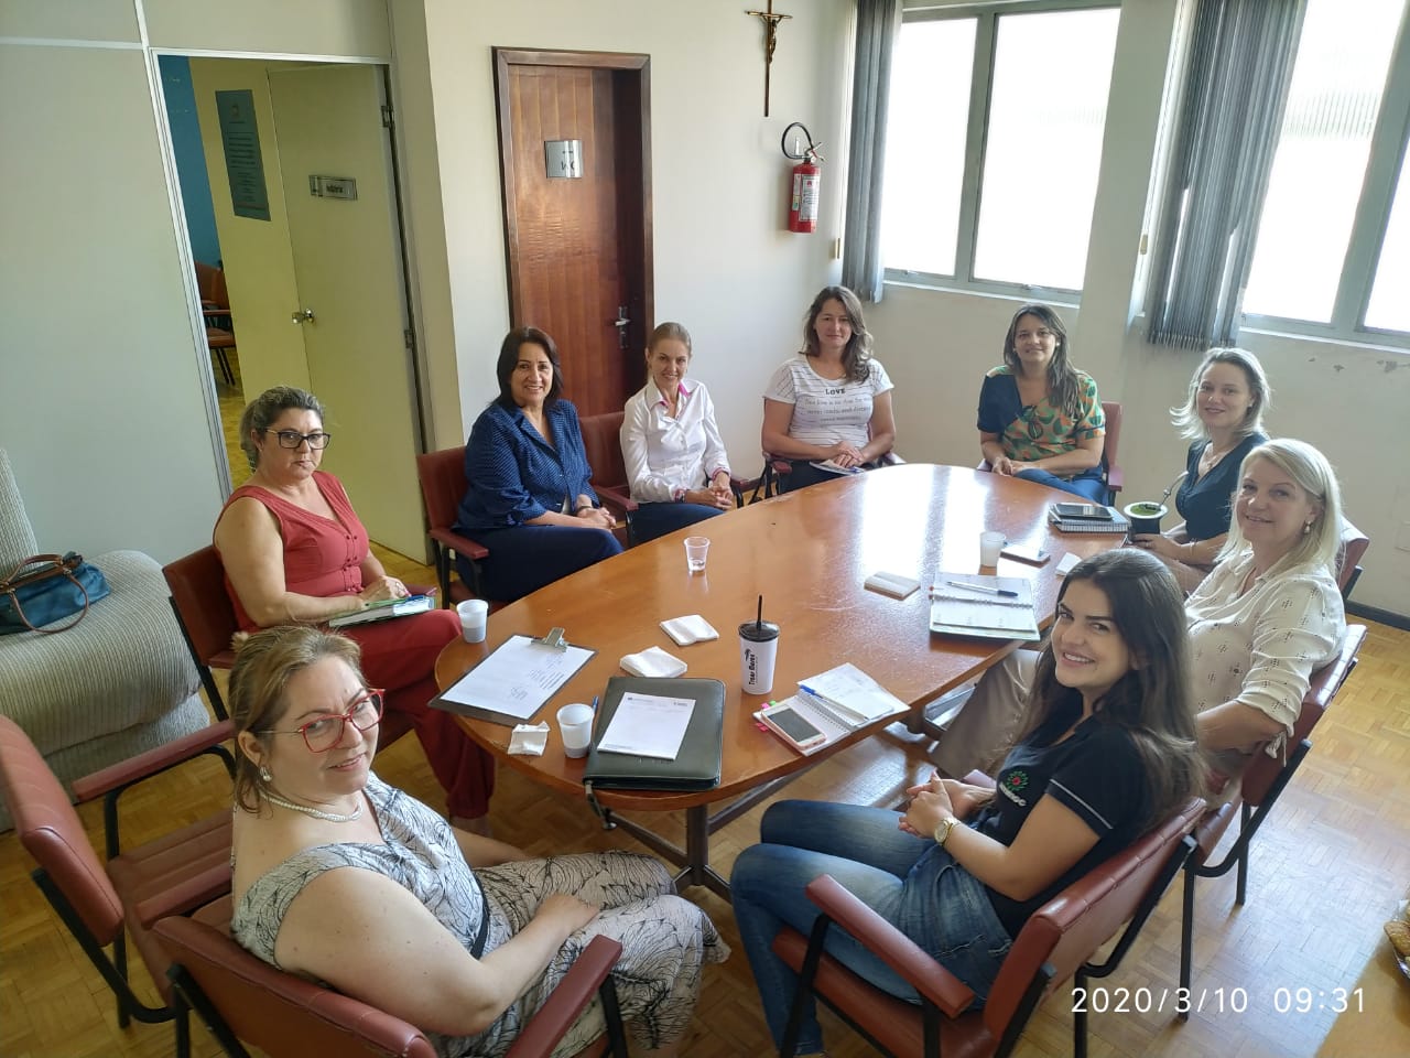
<svg viewBox="0 0 1410 1058">
<path fill-rule="evenodd" d="M 169 959 L 152 935 L 152 925 L 230 892 L 230 811 L 124 851 L 117 800 L 128 787 L 203 753 L 223 758 L 227 769 L 233 769 L 234 762 L 221 746 L 231 735 L 230 721 L 224 721 L 76 782 L 78 800 L 104 798 L 107 862 L 100 863 L 83 822 L 34 742 L 14 721 L 0 717 L 0 794 L 14 817 L 20 844 L 38 865 L 34 883 L 113 989 L 118 1026 L 125 1028 L 134 1017 L 148 1024 L 175 1021 L 178 1058 L 189 1054 L 189 1028 L 185 1011 L 172 1000 L 166 982 Z M 127 934 L 147 963 L 164 1006 L 147 1006 L 133 992 Z"/>
</svg>

